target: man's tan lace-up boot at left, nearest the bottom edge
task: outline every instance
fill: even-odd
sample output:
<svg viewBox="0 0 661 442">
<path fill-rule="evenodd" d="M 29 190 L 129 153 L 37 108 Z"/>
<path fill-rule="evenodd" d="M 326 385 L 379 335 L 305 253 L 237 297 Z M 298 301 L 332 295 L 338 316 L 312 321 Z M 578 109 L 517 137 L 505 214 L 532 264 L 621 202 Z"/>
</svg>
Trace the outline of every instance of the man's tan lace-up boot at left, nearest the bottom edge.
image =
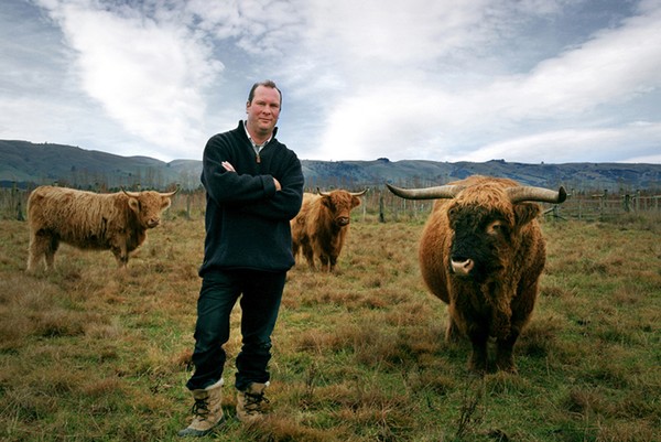
<svg viewBox="0 0 661 442">
<path fill-rule="evenodd" d="M 203 436 L 223 421 L 223 378 L 204 389 L 193 390 L 193 422 L 178 432 L 180 436 Z"/>
</svg>

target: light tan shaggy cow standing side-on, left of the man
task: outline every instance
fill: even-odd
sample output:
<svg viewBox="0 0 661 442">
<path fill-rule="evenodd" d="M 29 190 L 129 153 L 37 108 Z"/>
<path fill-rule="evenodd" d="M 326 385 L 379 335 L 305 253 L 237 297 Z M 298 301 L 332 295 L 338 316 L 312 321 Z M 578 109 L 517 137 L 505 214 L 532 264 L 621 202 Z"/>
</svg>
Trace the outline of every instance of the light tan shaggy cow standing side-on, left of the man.
<svg viewBox="0 0 661 442">
<path fill-rule="evenodd" d="M 118 192 L 96 194 L 65 187 L 36 187 L 28 200 L 30 256 L 28 271 L 45 258 L 52 268 L 59 242 L 80 249 L 110 249 L 119 267 L 156 227 L 170 207 L 170 193 Z"/>
</svg>

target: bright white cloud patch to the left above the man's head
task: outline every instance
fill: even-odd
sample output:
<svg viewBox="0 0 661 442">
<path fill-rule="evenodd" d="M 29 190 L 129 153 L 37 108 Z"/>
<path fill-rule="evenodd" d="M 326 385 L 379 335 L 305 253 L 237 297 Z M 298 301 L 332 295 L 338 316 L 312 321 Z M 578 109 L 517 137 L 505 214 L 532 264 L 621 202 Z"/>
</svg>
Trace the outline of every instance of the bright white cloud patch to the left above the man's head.
<svg viewBox="0 0 661 442">
<path fill-rule="evenodd" d="M 129 133 L 175 154 L 205 134 L 205 90 L 223 71 L 186 26 L 91 1 L 44 1 L 77 53 L 83 89 Z M 98 4 L 98 6 L 97 6 Z M 161 15 L 163 17 L 163 15 Z"/>
</svg>

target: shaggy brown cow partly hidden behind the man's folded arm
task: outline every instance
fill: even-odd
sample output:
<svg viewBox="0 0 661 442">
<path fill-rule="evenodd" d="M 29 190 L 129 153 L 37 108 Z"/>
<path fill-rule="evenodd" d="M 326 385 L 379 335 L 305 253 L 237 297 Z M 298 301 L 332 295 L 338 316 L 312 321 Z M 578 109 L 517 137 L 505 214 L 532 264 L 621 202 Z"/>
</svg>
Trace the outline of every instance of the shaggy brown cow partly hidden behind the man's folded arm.
<svg viewBox="0 0 661 442">
<path fill-rule="evenodd" d="M 351 209 L 360 205 L 358 196 L 365 195 L 367 188 L 358 193 L 317 192 L 303 194 L 301 211 L 291 220 L 292 251 L 295 257 L 302 248 L 311 269 L 315 269 L 316 258 L 322 270 L 332 272 L 349 231 Z"/>
</svg>

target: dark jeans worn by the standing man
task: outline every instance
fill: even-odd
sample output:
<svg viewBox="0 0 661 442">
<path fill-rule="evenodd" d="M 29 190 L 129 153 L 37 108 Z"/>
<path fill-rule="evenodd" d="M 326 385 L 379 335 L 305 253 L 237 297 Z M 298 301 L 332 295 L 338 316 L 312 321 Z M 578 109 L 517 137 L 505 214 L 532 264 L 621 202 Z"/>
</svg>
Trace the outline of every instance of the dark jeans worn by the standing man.
<svg viewBox="0 0 661 442">
<path fill-rule="evenodd" d="M 195 325 L 195 373 L 186 382 L 191 390 L 220 379 L 227 358 L 223 345 L 229 339 L 229 317 L 237 300 L 241 306 L 241 352 L 236 358 L 235 386 L 269 380 L 271 333 L 275 326 L 286 272 L 230 270 L 208 272 L 202 281 Z"/>
</svg>

